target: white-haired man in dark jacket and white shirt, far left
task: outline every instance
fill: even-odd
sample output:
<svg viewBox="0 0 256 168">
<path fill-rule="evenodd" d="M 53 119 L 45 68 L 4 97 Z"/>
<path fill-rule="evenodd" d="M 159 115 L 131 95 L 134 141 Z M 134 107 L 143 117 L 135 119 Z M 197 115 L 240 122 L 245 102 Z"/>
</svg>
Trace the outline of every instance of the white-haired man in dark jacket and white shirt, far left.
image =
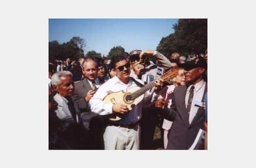
<svg viewBox="0 0 256 168">
<path fill-rule="evenodd" d="M 74 94 L 72 73 L 58 71 L 51 79 L 56 95 L 52 99 L 49 92 L 49 149 L 87 149 L 80 110 L 71 99 Z M 54 104 L 56 108 L 50 108 Z"/>
</svg>

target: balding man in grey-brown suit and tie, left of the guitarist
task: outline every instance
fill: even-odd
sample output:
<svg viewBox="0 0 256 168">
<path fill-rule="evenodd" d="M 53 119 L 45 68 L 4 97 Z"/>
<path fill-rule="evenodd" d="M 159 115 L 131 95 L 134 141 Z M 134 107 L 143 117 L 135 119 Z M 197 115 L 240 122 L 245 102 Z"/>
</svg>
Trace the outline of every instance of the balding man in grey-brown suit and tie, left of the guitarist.
<svg viewBox="0 0 256 168">
<path fill-rule="evenodd" d="M 75 83 L 75 91 L 72 99 L 79 105 L 84 127 L 89 133 L 91 149 L 103 149 L 103 139 L 101 138 L 103 123 L 100 117 L 90 111 L 88 102 L 93 97 L 96 89 L 100 86 L 100 80 L 97 78 L 97 63 L 87 58 L 83 61 L 84 79 Z"/>
</svg>

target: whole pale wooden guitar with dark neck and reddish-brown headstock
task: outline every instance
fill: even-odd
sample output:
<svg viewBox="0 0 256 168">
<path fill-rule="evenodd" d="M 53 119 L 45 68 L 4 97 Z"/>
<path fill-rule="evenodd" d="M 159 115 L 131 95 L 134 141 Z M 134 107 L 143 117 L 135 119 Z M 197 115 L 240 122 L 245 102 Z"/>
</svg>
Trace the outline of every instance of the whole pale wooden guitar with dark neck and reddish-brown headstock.
<svg viewBox="0 0 256 168">
<path fill-rule="evenodd" d="M 177 68 L 172 68 L 166 73 L 164 73 L 161 77 L 164 82 L 167 82 L 168 80 L 172 79 L 178 74 Z M 124 104 L 128 106 L 129 110 L 132 110 L 136 105 L 139 104 L 140 101 L 143 100 L 144 93 L 148 90 L 151 90 L 155 86 L 154 82 L 149 83 L 148 85 L 143 86 L 140 88 L 139 86 L 134 86 L 131 88 L 128 88 L 127 90 L 121 90 L 119 92 L 110 93 L 106 97 L 104 97 L 103 102 L 104 103 L 112 103 L 115 104 Z M 124 118 L 124 113 L 115 113 L 108 115 L 108 119 L 112 121 L 118 121 L 122 118 Z"/>
</svg>

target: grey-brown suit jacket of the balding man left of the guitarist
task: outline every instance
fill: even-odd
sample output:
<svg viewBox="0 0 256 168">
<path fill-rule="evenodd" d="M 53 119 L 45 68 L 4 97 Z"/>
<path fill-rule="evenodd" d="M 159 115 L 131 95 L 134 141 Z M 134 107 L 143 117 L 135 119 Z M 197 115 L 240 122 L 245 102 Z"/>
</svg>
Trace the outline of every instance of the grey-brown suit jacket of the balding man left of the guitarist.
<svg viewBox="0 0 256 168">
<path fill-rule="evenodd" d="M 81 111 L 81 117 L 83 125 L 86 129 L 89 128 L 90 125 L 90 119 L 94 116 L 97 116 L 97 114 L 90 111 L 89 104 L 85 101 L 85 97 L 89 90 L 92 90 L 89 82 L 86 78 L 83 80 L 75 83 L 75 92 L 72 99 L 77 102 L 80 111 Z"/>
</svg>

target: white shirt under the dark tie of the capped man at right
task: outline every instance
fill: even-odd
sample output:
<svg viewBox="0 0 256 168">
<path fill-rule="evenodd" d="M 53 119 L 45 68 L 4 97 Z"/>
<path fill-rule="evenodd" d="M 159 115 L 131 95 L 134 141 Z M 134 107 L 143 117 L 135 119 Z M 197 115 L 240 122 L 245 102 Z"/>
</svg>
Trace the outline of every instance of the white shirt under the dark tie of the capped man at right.
<svg viewBox="0 0 256 168">
<path fill-rule="evenodd" d="M 194 101 L 195 100 L 202 101 L 205 85 L 206 85 L 206 82 L 204 82 L 203 79 L 200 82 L 196 83 L 196 85 L 194 85 L 195 86 L 194 96 L 192 99 L 190 113 L 189 113 L 189 119 L 188 119 L 189 123 L 191 123 L 193 121 L 194 117 L 196 116 L 197 110 L 199 108 L 198 106 L 195 106 Z M 186 97 L 185 97 L 186 108 L 188 106 L 188 97 L 189 97 L 189 91 L 190 91 L 191 87 L 192 87 L 192 85 L 188 86 L 187 92 L 186 92 Z"/>
</svg>

